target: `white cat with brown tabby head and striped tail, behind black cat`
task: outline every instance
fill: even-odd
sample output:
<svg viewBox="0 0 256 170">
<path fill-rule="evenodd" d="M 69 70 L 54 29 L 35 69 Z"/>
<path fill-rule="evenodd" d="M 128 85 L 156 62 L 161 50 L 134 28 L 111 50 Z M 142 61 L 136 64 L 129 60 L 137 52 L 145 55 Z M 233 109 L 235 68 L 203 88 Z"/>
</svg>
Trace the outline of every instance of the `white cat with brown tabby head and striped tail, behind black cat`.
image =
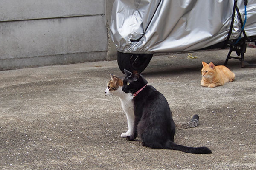
<svg viewBox="0 0 256 170">
<path fill-rule="evenodd" d="M 118 96 L 122 109 L 124 110 L 128 123 L 128 131 L 122 133 L 122 137 L 131 136 L 134 127 L 134 110 L 133 110 L 133 95 L 131 93 L 125 93 L 122 91 L 123 77 L 117 77 L 110 74 L 111 80 L 107 83 L 105 94 L 108 96 Z M 195 114 L 189 122 L 178 122 L 176 125 L 177 129 L 186 129 L 198 126 L 199 116 Z"/>
</svg>

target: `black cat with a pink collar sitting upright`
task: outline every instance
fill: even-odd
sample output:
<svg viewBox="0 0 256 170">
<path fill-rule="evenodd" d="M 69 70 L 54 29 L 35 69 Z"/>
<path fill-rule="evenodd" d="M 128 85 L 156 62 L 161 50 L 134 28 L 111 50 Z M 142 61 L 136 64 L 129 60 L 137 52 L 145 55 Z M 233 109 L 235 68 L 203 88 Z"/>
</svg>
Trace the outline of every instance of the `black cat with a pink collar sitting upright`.
<svg viewBox="0 0 256 170">
<path fill-rule="evenodd" d="M 133 73 L 124 70 L 122 90 L 134 95 L 134 129 L 127 140 L 134 140 L 137 135 L 142 139 L 142 145 L 180 150 L 186 153 L 207 154 L 212 151 L 207 147 L 186 147 L 174 143 L 175 124 L 172 112 L 166 98 L 153 86 L 147 85 L 147 80 L 137 71 Z"/>
</svg>

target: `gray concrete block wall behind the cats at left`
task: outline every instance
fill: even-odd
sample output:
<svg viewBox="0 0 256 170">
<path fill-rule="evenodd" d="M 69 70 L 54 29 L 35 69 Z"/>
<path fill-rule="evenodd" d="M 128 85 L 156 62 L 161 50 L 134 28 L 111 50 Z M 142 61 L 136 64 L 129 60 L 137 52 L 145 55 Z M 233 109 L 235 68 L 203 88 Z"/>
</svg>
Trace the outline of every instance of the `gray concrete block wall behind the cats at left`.
<svg viewBox="0 0 256 170">
<path fill-rule="evenodd" d="M 115 59 L 106 28 L 111 3 L 1 0 L 0 70 Z"/>
</svg>

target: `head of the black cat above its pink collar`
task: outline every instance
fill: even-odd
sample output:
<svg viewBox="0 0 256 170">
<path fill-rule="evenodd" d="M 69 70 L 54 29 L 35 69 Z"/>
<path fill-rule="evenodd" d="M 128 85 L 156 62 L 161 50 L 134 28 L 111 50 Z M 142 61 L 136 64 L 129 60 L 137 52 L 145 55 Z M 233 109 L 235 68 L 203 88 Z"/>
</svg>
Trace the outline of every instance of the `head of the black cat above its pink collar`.
<svg viewBox="0 0 256 170">
<path fill-rule="evenodd" d="M 134 94 L 140 88 L 142 88 L 145 84 L 147 84 L 147 80 L 143 78 L 137 71 L 133 71 L 131 73 L 128 70 L 125 70 L 125 79 L 123 80 L 124 85 L 122 86 L 122 90 L 125 93 L 132 93 Z"/>
</svg>

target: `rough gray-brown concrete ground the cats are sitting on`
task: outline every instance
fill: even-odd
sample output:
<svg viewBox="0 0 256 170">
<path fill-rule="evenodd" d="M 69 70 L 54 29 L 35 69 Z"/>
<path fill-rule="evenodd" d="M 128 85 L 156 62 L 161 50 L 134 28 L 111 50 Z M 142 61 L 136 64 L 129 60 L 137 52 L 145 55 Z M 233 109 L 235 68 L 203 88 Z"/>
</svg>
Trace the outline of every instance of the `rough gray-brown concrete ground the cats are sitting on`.
<svg viewBox="0 0 256 170">
<path fill-rule="evenodd" d="M 256 169 L 256 68 L 228 67 L 234 82 L 200 86 L 201 62 L 222 65 L 228 50 L 155 56 L 143 75 L 166 96 L 175 122 L 200 115 L 198 127 L 177 130 L 177 144 L 212 150 L 194 155 L 126 141 L 118 98 L 105 96 L 116 61 L 0 71 L 0 168 L 3 170 L 253 170 Z M 256 48 L 245 60 L 256 63 Z"/>
</svg>

